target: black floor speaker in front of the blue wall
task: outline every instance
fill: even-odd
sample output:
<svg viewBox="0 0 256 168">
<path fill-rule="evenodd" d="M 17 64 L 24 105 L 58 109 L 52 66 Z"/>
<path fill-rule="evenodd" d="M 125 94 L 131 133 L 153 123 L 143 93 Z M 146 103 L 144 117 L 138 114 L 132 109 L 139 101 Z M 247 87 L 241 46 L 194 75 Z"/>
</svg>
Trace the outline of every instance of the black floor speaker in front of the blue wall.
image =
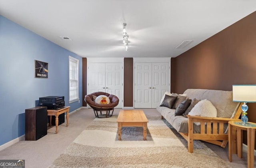
<svg viewBox="0 0 256 168">
<path fill-rule="evenodd" d="M 38 140 L 47 135 L 47 107 L 25 110 L 25 140 Z"/>
</svg>

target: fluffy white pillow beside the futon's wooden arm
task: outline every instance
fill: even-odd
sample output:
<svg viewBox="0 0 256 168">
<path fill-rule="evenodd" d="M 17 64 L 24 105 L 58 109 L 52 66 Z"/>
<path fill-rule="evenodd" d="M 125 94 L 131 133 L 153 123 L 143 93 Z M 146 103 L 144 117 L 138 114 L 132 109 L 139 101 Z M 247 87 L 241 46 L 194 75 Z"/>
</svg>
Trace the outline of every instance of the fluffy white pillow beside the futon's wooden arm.
<svg viewBox="0 0 256 168">
<path fill-rule="evenodd" d="M 188 115 L 202 116 L 202 117 L 217 117 L 217 110 L 209 100 L 201 100 L 198 102 Z M 196 125 L 200 125 L 200 122 L 195 122 Z"/>
</svg>

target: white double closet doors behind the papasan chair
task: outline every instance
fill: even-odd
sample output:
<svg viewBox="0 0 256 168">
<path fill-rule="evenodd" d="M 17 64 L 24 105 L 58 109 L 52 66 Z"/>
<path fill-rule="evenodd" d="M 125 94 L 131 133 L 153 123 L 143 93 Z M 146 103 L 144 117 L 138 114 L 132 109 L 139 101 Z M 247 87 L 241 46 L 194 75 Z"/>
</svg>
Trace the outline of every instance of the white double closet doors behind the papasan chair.
<svg viewBox="0 0 256 168">
<path fill-rule="evenodd" d="M 89 63 L 87 94 L 106 92 L 119 98 L 116 108 L 123 107 L 122 63 Z"/>
</svg>

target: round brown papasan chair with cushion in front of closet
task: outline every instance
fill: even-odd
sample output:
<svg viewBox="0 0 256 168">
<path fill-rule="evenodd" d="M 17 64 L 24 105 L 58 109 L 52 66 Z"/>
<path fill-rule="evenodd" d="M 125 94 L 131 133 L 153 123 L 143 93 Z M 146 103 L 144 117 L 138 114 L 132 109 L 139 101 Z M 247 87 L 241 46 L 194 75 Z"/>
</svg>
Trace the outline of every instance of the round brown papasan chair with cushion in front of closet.
<svg viewBox="0 0 256 168">
<path fill-rule="evenodd" d="M 107 96 L 110 100 L 110 103 L 109 104 L 96 103 L 95 98 L 100 95 Z M 113 94 L 108 94 L 105 92 L 94 92 L 91 94 L 87 94 L 86 96 L 84 96 L 84 101 L 92 108 L 92 110 L 94 111 L 95 117 L 97 118 L 111 117 L 114 112 L 114 107 L 116 107 L 119 103 L 119 99 L 117 96 Z M 111 110 L 112 110 L 112 113 L 110 114 Z M 103 111 L 106 112 L 106 114 L 102 114 Z M 100 112 L 100 114 L 98 114 L 98 112 Z"/>
</svg>

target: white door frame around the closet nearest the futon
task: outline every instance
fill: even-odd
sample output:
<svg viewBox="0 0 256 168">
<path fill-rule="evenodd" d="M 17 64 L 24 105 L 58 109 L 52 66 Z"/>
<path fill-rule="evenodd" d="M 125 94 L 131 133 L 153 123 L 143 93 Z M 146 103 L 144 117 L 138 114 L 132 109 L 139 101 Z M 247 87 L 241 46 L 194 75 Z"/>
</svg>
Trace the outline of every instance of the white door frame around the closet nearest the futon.
<svg viewBox="0 0 256 168">
<path fill-rule="evenodd" d="M 171 90 L 171 58 L 170 57 L 160 57 L 160 58 L 133 58 L 133 100 L 132 100 L 132 107 L 134 108 L 135 103 L 135 63 L 161 63 L 161 62 L 168 62 L 169 63 L 169 90 L 168 92 L 170 92 Z"/>
</svg>

